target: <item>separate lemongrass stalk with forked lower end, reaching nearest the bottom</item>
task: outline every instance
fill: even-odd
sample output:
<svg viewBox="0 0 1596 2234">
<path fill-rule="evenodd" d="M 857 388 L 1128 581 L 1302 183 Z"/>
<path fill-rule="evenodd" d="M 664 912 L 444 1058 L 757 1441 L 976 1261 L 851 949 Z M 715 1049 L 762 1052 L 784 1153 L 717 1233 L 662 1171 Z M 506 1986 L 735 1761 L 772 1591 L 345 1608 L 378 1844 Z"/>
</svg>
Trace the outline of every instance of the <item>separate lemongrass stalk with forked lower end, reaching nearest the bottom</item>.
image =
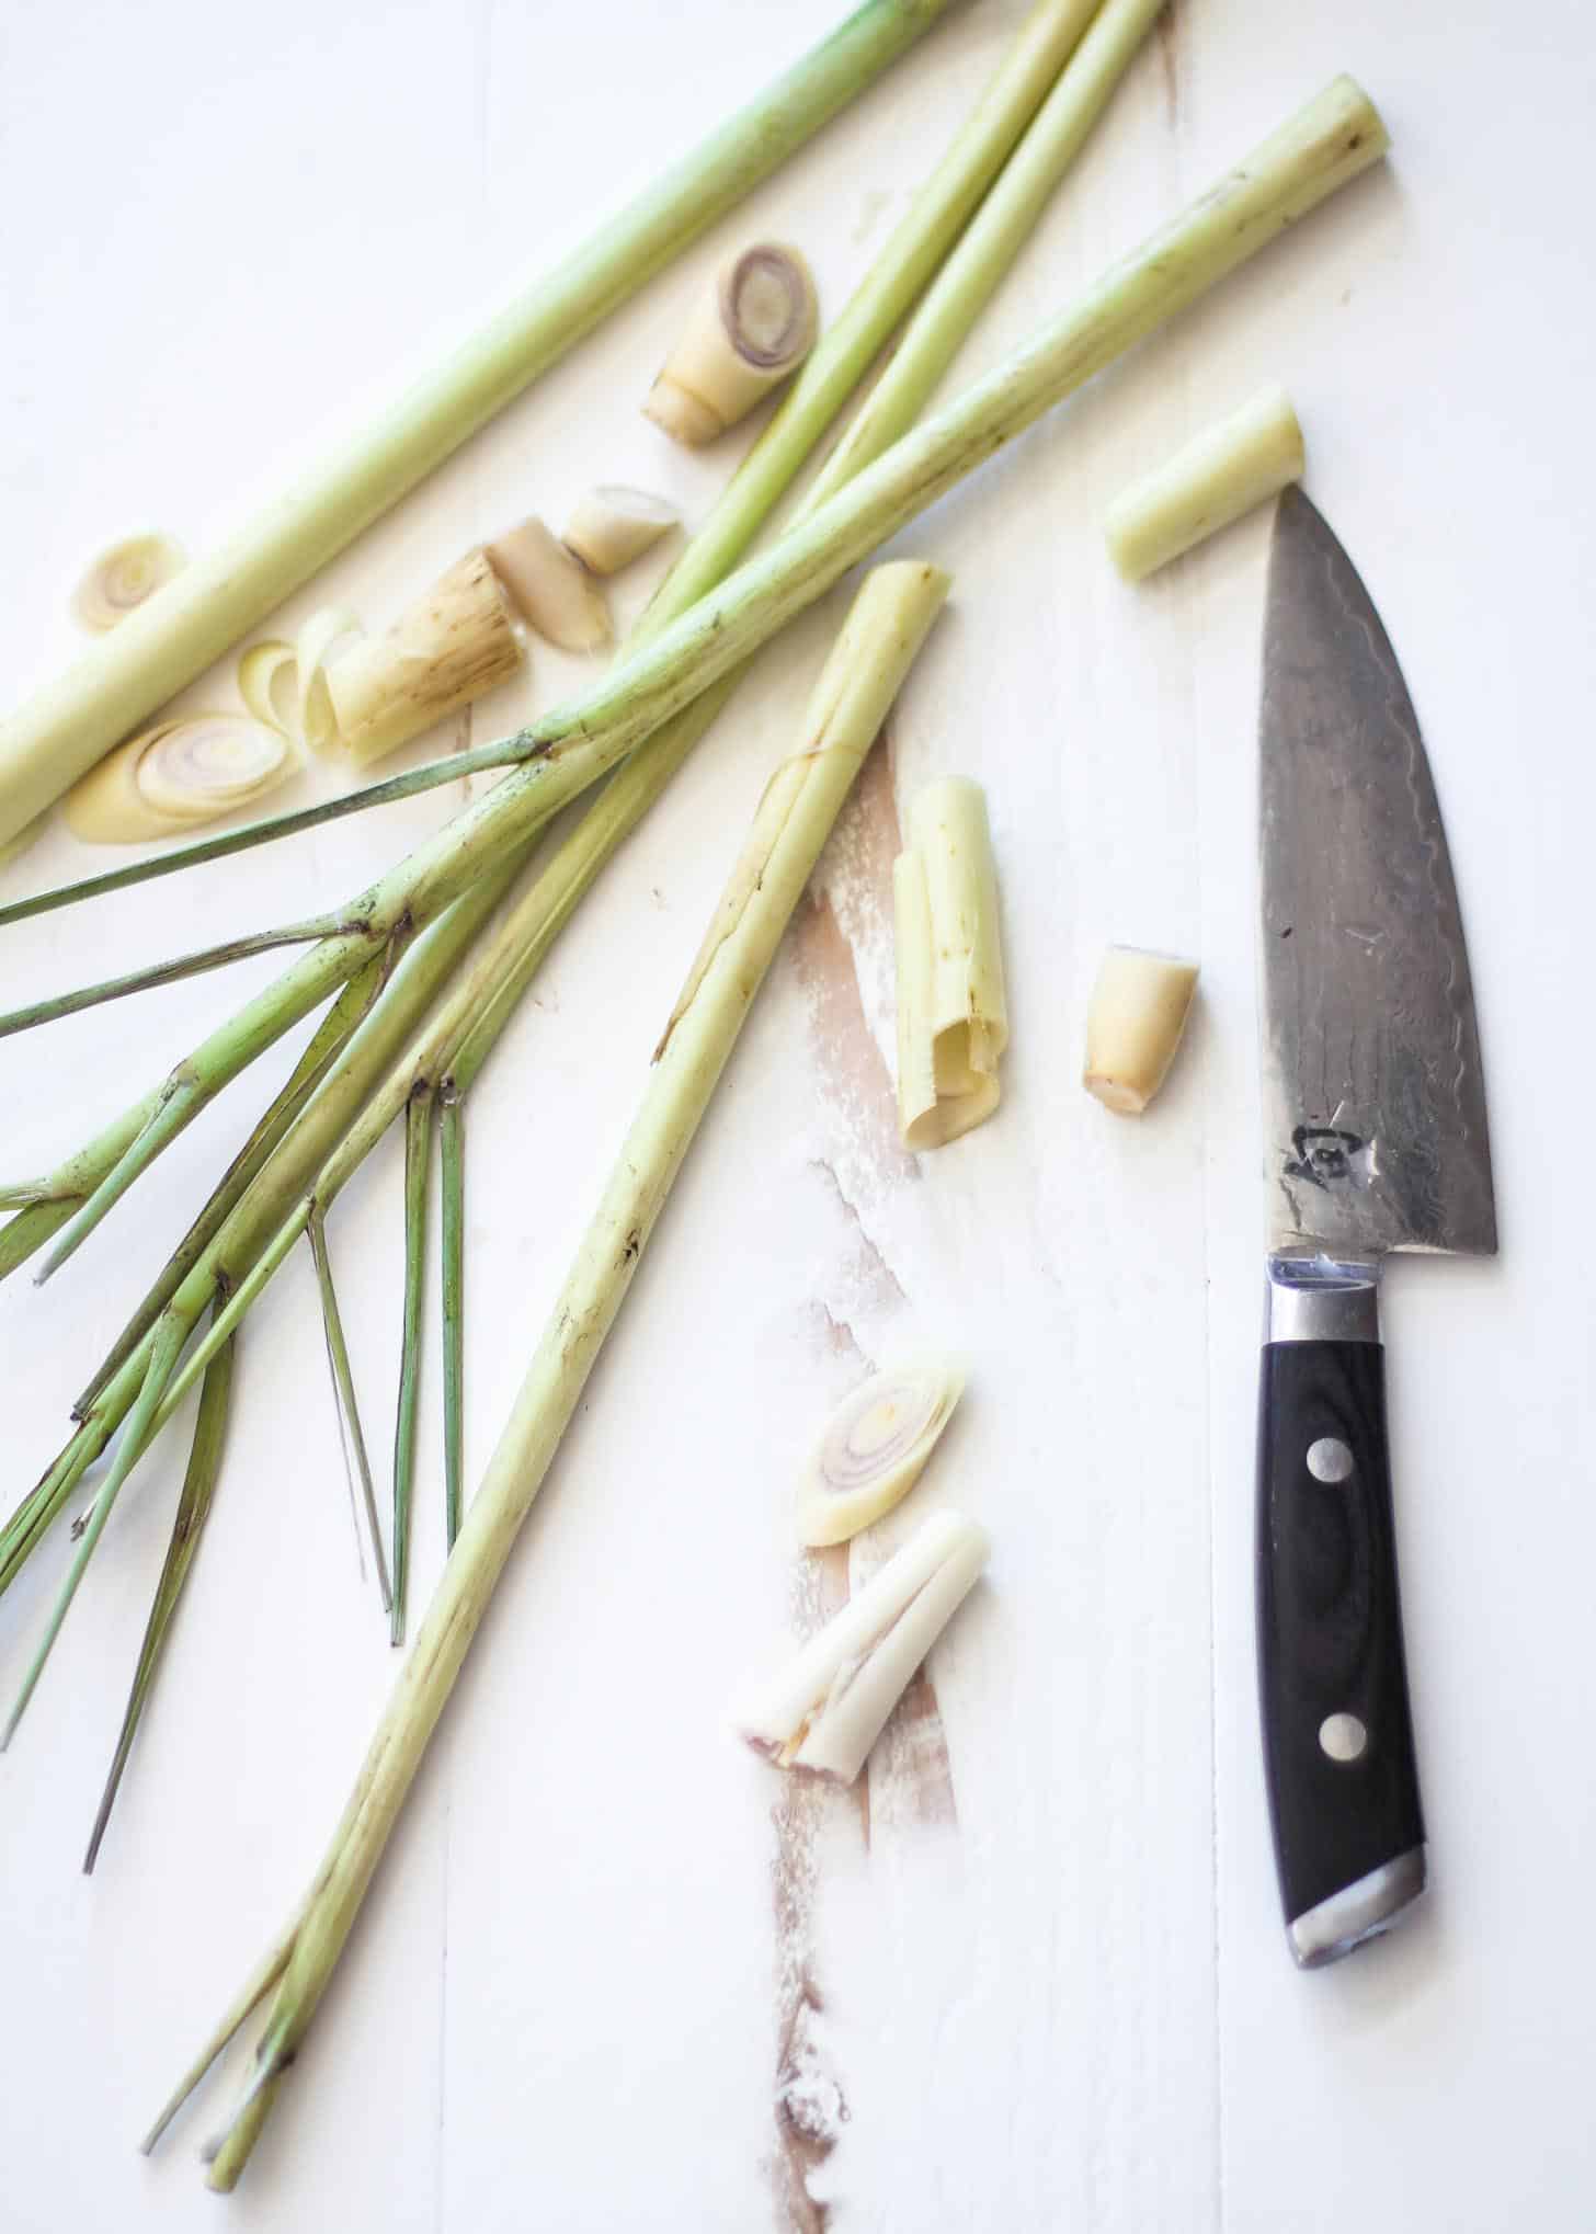
<svg viewBox="0 0 1596 2234">
<path fill-rule="evenodd" d="M 753 992 L 946 588 L 937 567 L 914 561 L 867 576 L 811 699 L 802 748 L 767 786 L 749 844 L 666 1025 L 637 1119 L 313 1881 L 266 2013 L 255 2075 L 210 2165 L 217 2189 L 237 2183 L 300 2051 L 467 1644 L 626 1298 Z"/>
</svg>

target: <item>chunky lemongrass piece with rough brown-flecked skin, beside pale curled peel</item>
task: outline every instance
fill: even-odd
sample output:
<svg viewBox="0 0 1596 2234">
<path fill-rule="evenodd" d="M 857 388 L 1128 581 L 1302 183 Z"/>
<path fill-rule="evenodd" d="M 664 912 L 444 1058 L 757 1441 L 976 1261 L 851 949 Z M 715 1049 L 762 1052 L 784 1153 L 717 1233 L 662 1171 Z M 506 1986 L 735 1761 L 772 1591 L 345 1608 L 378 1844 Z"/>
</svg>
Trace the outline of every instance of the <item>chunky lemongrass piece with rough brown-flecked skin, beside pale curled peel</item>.
<svg viewBox="0 0 1596 2234">
<path fill-rule="evenodd" d="M 523 657 L 487 552 L 467 552 L 387 634 L 364 637 L 331 661 L 329 751 L 355 766 L 382 760 L 505 681 Z"/>
</svg>

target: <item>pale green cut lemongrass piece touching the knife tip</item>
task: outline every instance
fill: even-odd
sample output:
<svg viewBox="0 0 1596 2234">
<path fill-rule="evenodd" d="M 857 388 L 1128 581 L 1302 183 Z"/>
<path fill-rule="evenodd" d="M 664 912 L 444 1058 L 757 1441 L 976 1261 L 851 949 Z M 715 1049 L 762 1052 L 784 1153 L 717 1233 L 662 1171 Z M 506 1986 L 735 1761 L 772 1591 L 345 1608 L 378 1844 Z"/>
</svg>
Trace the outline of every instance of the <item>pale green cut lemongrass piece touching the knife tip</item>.
<svg viewBox="0 0 1596 2234">
<path fill-rule="evenodd" d="M 1102 523 L 1113 563 L 1127 581 L 1153 574 L 1301 480 L 1303 462 L 1292 398 L 1261 389 L 1115 498 Z"/>
</svg>

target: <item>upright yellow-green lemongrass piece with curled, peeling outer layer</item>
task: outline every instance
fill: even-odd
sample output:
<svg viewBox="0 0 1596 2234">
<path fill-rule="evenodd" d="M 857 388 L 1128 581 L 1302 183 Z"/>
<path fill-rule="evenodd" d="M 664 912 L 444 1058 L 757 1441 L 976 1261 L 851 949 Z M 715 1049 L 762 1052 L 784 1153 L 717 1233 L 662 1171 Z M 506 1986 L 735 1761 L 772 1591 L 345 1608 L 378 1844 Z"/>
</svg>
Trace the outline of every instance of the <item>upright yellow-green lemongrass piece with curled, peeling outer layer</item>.
<svg viewBox="0 0 1596 2234">
<path fill-rule="evenodd" d="M 941 1148 L 992 1115 L 1008 1046 L 997 871 L 986 795 L 966 775 L 928 784 L 892 869 L 899 972 L 899 1130 Z"/>
</svg>

